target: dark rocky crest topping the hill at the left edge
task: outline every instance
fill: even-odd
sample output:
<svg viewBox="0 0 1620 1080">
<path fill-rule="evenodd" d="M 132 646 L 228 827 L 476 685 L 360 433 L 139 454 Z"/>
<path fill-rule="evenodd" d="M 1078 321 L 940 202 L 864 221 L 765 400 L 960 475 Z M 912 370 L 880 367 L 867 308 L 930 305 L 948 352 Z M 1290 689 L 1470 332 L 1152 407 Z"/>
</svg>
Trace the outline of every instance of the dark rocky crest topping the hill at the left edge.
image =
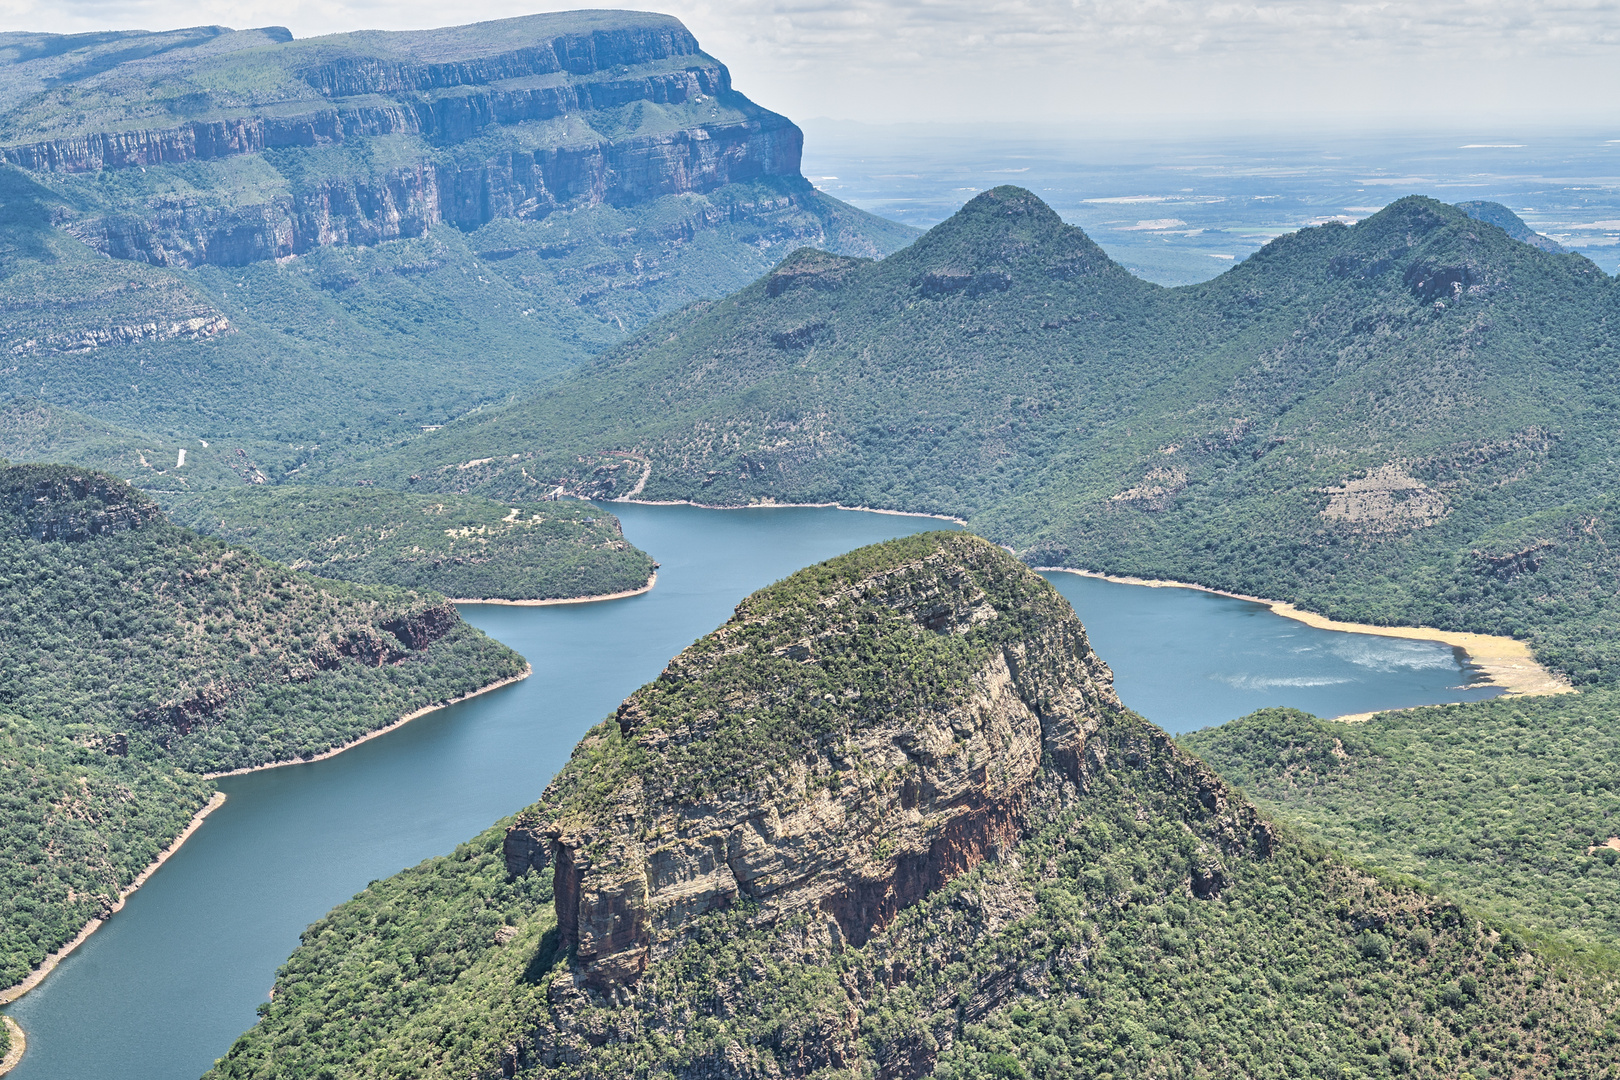
<svg viewBox="0 0 1620 1080">
<path fill-rule="evenodd" d="M 0 470 L 0 510 L 40 542 L 122 533 L 164 517 L 156 502 L 123 481 L 62 465 Z"/>
</svg>

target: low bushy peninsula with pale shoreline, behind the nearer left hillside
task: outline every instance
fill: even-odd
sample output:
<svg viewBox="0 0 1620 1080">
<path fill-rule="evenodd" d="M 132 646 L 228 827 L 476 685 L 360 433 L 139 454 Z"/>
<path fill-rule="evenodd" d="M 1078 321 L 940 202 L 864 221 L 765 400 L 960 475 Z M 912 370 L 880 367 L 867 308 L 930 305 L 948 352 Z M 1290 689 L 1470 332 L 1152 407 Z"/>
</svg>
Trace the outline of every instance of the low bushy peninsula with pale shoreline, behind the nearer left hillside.
<svg viewBox="0 0 1620 1080">
<path fill-rule="evenodd" d="M 653 559 L 578 502 L 253 486 L 170 500 L 199 533 L 326 578 L 465 599 L 567 599 L 646 585 Z"/>
</svg>

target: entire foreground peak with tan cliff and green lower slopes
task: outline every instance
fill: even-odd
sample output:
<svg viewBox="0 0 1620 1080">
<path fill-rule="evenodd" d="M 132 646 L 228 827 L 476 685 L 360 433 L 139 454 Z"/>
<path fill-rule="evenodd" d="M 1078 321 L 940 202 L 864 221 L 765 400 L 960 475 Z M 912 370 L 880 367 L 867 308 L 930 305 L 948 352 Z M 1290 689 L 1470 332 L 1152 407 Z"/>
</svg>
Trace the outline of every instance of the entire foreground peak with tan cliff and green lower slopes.
<svg viewBox="0 0 1620 1080">
<path fill-rule="evenodd" d="M 745 599 L 535 806 L 313 925 L 209 1075 L 1594 1075 L 1589 989 L 1268 823 L 932 533 Z"/>
</svg>

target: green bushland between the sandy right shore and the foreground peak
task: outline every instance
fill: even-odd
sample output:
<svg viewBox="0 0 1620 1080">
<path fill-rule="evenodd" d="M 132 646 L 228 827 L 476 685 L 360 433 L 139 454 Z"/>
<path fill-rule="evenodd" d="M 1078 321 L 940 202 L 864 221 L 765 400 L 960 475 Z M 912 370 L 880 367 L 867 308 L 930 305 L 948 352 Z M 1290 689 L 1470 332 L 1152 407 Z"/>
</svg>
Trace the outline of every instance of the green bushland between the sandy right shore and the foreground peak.
<svg viewBox="0 0 1620 1080">
<path fill-rule="evenodd" d="M 1267 709 L 1183 745 L 1367 865 L 1592 955 L 1620 954 L 1620 695 L 1503 698 L 1333 724 Z"/>
</svg>

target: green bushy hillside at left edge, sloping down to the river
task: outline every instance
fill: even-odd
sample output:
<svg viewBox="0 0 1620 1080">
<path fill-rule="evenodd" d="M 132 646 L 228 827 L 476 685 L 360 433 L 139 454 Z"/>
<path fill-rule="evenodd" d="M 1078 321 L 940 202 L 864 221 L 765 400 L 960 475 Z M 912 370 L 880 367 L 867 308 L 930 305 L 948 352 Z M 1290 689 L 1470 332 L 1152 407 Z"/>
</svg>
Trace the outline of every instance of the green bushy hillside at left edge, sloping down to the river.
<svg viewBox="0 0 1620 1080">
<path fill-rule="evenodd" d="M 105 913 L 207 801 L 522 670 L 433 593 L 326 581 L 110 476 L 0 470 L 0 984 Z"/>
</svg>

